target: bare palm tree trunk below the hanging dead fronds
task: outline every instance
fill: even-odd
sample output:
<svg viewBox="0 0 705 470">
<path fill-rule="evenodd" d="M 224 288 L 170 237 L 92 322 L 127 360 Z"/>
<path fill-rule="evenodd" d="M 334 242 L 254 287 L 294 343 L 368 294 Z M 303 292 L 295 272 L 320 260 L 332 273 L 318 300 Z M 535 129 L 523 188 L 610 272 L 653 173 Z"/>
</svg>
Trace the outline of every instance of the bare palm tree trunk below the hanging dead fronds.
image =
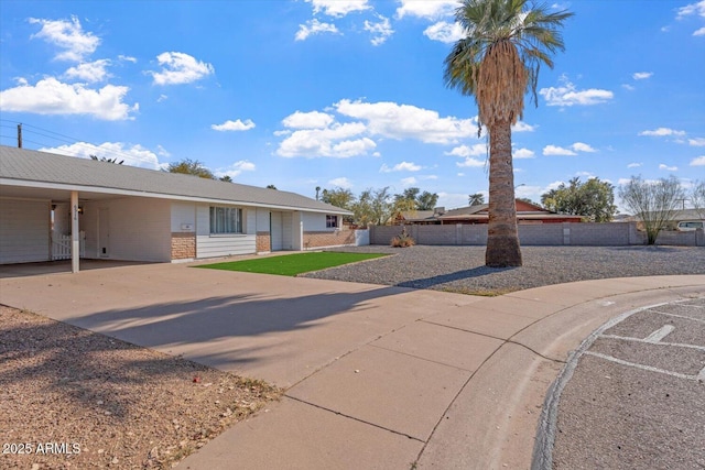
<svg viewBox="0 0 705 470">
<path fill-rule="evenodd" d="M 514 173 L 511 160 L 511 122 L 489 128 L 489 223 L 485 264 L 490 267 L 521 266 L 517 231 Z"/>
</svg>

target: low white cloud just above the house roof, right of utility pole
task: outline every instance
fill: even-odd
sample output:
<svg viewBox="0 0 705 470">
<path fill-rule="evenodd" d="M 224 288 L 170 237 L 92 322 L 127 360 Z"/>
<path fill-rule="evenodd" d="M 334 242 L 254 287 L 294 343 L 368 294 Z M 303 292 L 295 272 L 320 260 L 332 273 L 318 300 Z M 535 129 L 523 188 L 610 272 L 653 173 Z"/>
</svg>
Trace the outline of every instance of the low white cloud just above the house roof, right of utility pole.
<svg viewBox="0 0 705 470">
<path fill-rule="evenodd" d="M 161 147 L 160 152 L 163 150 Z M 82 159 L 90 159 L 96 155 L 98 159 L 117 159 L 124 161 L 124 165 L 140 166 L 143 168 L 159 170 L 161 167 L 156 154 L 151 150 L 144 149 L 142 145 L 130 145 L 122 142 L 104 142 L 100 145 L 94 145 L 86 142 L 76 142 L 70 145 L 61 145 L 55 147 L 43 147 L 40 152 L 57 153 L 59 155 L 78 156 Z"/>
</svg>

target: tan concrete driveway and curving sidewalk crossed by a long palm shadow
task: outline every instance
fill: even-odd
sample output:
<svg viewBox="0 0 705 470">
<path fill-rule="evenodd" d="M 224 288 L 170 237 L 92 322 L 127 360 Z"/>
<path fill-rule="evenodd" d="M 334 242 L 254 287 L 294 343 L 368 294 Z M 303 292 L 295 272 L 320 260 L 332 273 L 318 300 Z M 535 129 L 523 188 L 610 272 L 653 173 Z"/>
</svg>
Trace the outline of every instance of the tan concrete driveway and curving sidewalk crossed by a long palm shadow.
<svg viewBox="0 0 705 470">
<path fill-rule="evenodd" d="M 0 280 L 0 303 L 286 387 L 191 469 L 528 468 L 568 352 L 705 276 L 484 298 L 152 264 Z"/>
</svg>

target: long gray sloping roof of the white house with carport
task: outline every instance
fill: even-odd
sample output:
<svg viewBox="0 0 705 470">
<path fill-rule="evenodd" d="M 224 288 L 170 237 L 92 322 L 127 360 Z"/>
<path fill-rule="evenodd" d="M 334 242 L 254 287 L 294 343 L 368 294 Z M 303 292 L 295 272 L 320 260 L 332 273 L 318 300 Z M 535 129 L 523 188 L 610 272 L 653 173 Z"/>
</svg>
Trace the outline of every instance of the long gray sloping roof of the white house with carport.
<svg viewBox="0 0 705 470">
<path fill-rule="evenodd" d="M 12 186 L 351 214 L 296 193 L 7 145 L 0 145 L 0 184 L 2 196 L 11 196 Z"/>
</svg>

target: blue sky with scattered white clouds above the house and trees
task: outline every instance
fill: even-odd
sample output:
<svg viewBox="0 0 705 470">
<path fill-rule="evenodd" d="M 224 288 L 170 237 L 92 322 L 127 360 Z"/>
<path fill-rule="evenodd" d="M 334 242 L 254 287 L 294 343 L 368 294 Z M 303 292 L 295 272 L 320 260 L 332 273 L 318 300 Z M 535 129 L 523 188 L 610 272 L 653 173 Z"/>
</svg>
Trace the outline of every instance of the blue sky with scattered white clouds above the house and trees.
<svg viewBox="0 0 705 470">
<path fill-rule="evenodd" d="M 471 97 L 443 61 L 453 0 L 0 4 L 0 143 L 217 175 L 311 197 L 487 194 Z M 566 50 L 514 128 L 519 197 L 561 182 L 705 178 L 705 0 L 576 0 Z"/>
</svg>

